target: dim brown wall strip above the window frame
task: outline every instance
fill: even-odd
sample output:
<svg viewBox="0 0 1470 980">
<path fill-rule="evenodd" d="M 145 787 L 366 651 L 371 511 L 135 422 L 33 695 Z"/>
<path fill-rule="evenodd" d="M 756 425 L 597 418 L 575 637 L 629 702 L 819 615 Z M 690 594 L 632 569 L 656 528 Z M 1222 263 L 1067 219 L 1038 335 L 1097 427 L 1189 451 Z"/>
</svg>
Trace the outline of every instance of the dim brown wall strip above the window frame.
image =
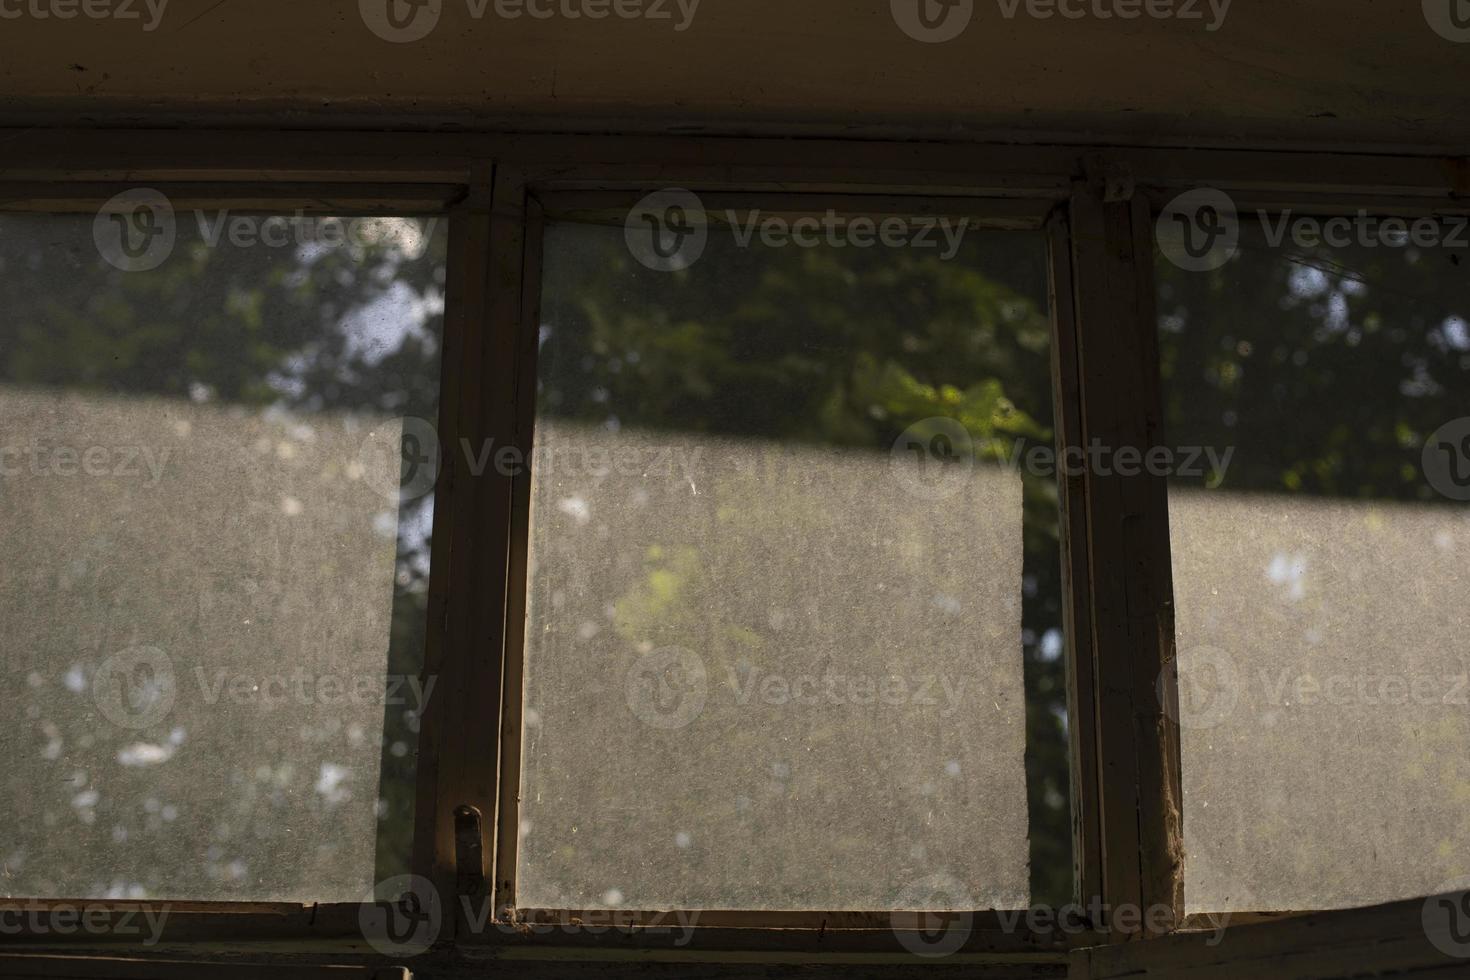
<svg viewBox="0 0 1470 980">
<path fill-rule="evenodd" d="M 917 0 L 438 0 L 390 43 L 385 0 L 0 0 L 0 113 L 1470 145 L 1470 41 L 1430 25 L 1464 0 L 960 1 L 947 43 L 900 29 Z"/>
</svg>

